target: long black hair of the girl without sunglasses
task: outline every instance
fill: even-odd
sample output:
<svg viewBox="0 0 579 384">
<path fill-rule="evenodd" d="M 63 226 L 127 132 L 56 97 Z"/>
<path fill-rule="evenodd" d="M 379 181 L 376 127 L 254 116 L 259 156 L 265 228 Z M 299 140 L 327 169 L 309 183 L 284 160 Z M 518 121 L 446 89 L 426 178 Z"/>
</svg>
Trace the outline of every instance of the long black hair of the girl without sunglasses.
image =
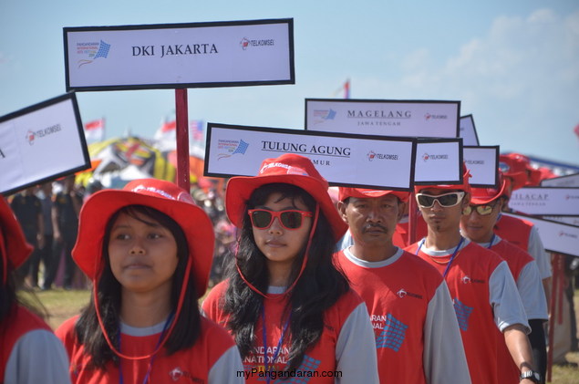
<svg viewBox="0 0 579 384">
<path fill-rule="evenodd" d="M 185 291 L 181 313 L 179 317 L 173 320 L 175 321 L 175 326 L 172 329 L 171 335 L 167 338 L 164 348 L 168 355 L 181 349 L 190 348 L 195 344 L 197 337 L 199 337 L 201 327 L 201 315 L 199 306 L 197 305 L 198 294 L 195 291 L 192 274 L 189 276 L 189 281 L 184 282 L 186 265 L 189 257 L 192 255 L 189 254 L 189 247 L 181 226 L 165 213 L 161 213 L 154 208 L 144 205 L 129 205 L 121 208 L 110 218 L 105 229 L 101 251 L 104 267 L 102 275 L 97 283 L 98 308 L 102 317 L 103 325 L 109 335 L 110 342 L 115 348 L 119 348 L 121 285 L 110 269 L 109 239 L 112 225 L 116 222 L 120 213 L 126 213 L 142 223 L 160 223 L 161 226 L 167 228 L 175 237 L 177 243 L 177 258 L 179 259 L 179 262 L 175 274 L 173 275 L 173 285 L 171 288 L 171 307 L 173 311 L 176 310 L 179 302 L 181 286 L 187 284 L 187 289 Z M 143 216 L 149 218 L 150 222 L 146 221 Z M 78 337 L 78 342 L 84 344 L 85 350 L 88 355 L 90 355 L 91 362 L 95 368 L 104 369 L 105 365 L 110 360 L 119 364 L 119 357 L 111 348 L 109 348 L 109 344 L 98 324 L 97 311 L 93 296 L 91 296 L 88 306 L 83 309 L 78 318 L 75 332 Z"/>
</svg>

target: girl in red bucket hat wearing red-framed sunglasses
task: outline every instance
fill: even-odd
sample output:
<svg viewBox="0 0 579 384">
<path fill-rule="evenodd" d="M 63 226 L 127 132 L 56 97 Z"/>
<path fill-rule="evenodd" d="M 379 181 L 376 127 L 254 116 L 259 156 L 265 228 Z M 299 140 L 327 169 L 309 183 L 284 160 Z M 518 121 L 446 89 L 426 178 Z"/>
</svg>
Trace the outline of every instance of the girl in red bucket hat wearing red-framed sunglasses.
<svg viewBox="0 0 579 384">
<path fill-rule="evenodd" d="M 366 306 L 332 264 L 346 223 L 327 188 L 295 154 L 266 159 L 257 176 L 227 184 L 237 254 L 202 307 L 235 338 L 247 382 L 378 381 Z"/>
</svg>

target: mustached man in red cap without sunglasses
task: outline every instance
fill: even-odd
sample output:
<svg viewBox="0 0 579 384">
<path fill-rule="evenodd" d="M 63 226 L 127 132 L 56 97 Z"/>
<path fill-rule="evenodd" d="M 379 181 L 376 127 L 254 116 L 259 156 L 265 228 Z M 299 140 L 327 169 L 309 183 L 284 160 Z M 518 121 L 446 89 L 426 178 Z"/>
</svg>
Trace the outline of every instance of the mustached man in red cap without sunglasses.
<svg viewBox="0 0 579 384">
<path fill-rule="evenodd" d="M 382 383 L 469 383 L 449 288 L 428 263 L 392 243 L 408 192 L 340 188 L 353 245 L 335 254 L 362 296 Z"/>
</svg>

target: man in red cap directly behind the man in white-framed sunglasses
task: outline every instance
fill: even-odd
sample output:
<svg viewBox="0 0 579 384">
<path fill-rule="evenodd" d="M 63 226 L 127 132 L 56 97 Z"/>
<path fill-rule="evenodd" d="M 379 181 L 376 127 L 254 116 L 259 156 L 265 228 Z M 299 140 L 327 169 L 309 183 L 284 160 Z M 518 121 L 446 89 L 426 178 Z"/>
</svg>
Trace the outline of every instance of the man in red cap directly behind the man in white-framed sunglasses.
<svg viewBox="0 0 579 384">
<path fill-rule="evenodd" d="M 497 222 L 508 182 L 500 178 L 500 188 L 473 188 L 471 191 L 470 206 L 462 216 L 460 223 L 462 234 L 471 241 L 484 248 L 500 254 L 509 265 L 512 276 L 515 279 L 519 296 L 527 314 L 529 325 L 532 329 L 529 340 L 532 347 L 533 360 L 536 363 L 541 377 L 546 373 L 546 346 L 543 330 L 543 322 L 548 320 L 547 302 L 545 300 L 539 269 L 532 256 L 524 252 L 518 246 L 501 239 L 494 233 L 494 224 Z M 519 377 L 519 368 L 512 363 L 509 350 L 498 341 L 498 364 L 499 383 L 509 384 L 516 382 Z"/>
</svg>

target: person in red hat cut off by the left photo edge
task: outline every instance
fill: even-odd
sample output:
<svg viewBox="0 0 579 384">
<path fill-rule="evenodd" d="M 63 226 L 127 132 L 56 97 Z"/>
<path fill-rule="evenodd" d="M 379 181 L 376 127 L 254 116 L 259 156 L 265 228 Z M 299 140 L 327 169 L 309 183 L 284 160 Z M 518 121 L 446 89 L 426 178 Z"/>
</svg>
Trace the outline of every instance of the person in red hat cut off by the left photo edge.
<svg viewBox="0 0 579 384">
<path fill-rule="evenodd" d="M 65 348 L 47 323 L 16 297 L 14 271 L 32 252 L 0 196 L 0 382 L 69 383 Z"/>
</svg>

